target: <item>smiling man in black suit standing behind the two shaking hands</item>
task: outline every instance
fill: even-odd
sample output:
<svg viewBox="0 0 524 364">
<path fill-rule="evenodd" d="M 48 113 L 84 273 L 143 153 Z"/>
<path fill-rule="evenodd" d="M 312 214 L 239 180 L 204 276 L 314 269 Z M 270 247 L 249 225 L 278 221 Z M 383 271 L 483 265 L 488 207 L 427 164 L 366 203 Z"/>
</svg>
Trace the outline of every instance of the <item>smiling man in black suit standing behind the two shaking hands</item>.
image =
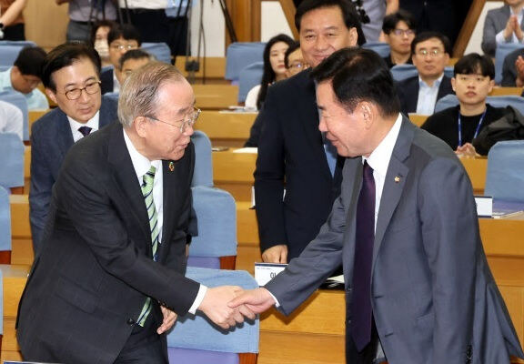
<svg viewBox="0 0 524 364">
<path fill-rule="evenodd" d="M 304 60 L 313 67 L 340 48 L 364 42 L 347 0 L 305 0 L 295 23 Z M 315 238 L 340 187 L 337 152 L 318 131 L 309 70 L 269 87 L 254 129 L 262 130 L 255 171 L 262 258 L 287 263 Z"/>
</svg>

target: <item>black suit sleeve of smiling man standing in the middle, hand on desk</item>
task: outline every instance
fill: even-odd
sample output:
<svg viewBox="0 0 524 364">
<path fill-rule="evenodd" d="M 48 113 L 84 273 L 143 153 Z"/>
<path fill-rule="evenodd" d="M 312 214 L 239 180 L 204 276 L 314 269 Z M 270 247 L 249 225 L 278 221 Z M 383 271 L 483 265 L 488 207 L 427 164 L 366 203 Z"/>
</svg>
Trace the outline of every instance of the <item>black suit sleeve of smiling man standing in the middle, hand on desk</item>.
<svg viewBox="0 0 524 364">
<path fill-rule="evenodd" d="M 273 92 L 272 92 L 273 91 Z M 258 140 L 255 170 L 255 201 L 258 234 L 262 251 L 287 244 L 284 218 L 285 153 L 282 112 L 274 89 L 269 87 L 266 102 L 258 114 L 262 131 Z"/>
</svg>

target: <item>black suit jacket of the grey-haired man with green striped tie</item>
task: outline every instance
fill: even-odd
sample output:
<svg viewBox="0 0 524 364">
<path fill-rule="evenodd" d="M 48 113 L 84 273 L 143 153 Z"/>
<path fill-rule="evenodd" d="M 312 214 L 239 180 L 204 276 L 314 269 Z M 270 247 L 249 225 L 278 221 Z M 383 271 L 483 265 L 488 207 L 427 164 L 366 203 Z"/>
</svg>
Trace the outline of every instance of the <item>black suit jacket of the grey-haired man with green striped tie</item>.
<svg viewBox="0 0 524 364">
<path fill-rule="evenodd" d="M 184 277 L 193 145 L 173 172 L 168 163 L 163 236 L 154 261 L 122 126 L 107 126 L 71 147 L 19 306 L 17 338 L 25 359 L 113 363 L 147 296 L 156 310 L 157 302 L 179 315 L 191 307 L 199 288 Z M 166 344 L 166 335 L 161 339 Z"/>
</svg>

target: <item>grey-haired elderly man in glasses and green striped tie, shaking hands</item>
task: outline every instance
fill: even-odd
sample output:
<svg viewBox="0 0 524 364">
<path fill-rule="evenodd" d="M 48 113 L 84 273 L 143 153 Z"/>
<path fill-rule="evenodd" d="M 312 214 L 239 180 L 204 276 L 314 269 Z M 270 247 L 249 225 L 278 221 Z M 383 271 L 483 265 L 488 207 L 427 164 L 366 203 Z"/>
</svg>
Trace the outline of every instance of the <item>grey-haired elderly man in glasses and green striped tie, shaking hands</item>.
<svg viewBox="0 0 524 364">
<path fill-rule="evenodd" d="M 70 148 L 20 302 L 25 359 L 167 363 L 177 314 L 199 309 L 224 329 L 254 317 L 227 307 L 239 288 L 184 276 L 194 104 L 175 66 L 151 63 L 126 80 L 120 123 Z"/>
</svg>

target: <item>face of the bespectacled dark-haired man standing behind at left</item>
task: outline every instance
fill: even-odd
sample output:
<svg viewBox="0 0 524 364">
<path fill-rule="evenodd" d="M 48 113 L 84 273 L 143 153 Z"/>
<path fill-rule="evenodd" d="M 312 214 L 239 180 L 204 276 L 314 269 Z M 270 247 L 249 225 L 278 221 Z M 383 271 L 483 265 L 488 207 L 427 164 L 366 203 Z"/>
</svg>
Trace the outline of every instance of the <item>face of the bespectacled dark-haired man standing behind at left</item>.
<svg viewBox="0 0 524 364">
<path fill-rule="evenodd" d="M 82 90 L 80 97 L 69 100 L 65 93 L 74 89 L 84 88 L 99 81 L 96 67 L 86 57 L 73 61 L 71 66 L 65 66 L 53 72 L 51 75 L 55 84 L 55 91 L 45 88 L 45 94 L 49 96 L 64 111 L 79 123 L 86 123 L 95 116 L 100 109 L 102 96 L 100 87 L 94 94 L 88 94 Z"/>
</svg>

